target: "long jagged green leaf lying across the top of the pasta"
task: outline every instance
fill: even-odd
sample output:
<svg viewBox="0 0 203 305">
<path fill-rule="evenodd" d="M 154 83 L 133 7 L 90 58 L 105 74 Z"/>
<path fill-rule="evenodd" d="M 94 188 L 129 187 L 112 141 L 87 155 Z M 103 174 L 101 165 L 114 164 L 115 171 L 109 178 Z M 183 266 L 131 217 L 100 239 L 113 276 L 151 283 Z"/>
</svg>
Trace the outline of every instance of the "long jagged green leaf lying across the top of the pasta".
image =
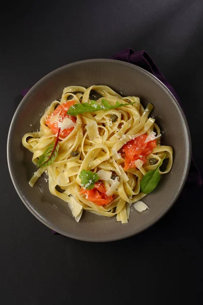
<svg viewBox="0 0 203 305">
<path fill-rule="evenodd" d="M 75 105 L 71 106 L 69 108 L 69 110 L 67 111 L 67 114 L 75 116 L 77 114 L 81 114 L 84 112 L 109 110 L 109 109 L 114 109 L 114 108 L 118 108 L 118 107 L 122 107 L 122 106 L 128 106 L 128 105 L 131 105 L 134 103 L 136 103 L 136 102 L 127 103 L 127 104 L 122 104 L 122 103 L 116 102 L 115 105 L 110 105 L 108 101 L 106 101 L 105 99 L 102 99 L 101 105 L 100 105 L 96 101 L 92 100 L 92 101 L 90 101 L 90 103 L 75 104 Z"/>
</svg>

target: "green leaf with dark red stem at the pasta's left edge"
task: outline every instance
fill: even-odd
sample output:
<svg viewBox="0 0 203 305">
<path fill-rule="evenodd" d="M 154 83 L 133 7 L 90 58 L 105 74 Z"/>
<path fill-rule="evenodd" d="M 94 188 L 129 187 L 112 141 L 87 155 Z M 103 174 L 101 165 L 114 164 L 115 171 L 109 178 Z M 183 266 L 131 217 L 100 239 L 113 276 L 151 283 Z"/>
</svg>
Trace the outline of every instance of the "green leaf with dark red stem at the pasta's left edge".
<svg viewBox="0 0 203 305">
<path fill-rule="evenodd" d="M 40 159 L 38 160 L 38 166 L 39 167 L 45 167 L 53 163 L 58 156 L 58 149 L 59 149 L 59 144 L 58 144 L 58 137 L 60 134 L 60 128 L 58 129 L 56 141 L 51 143 L 45 152 L 40 156 Z"/>
</svg>

